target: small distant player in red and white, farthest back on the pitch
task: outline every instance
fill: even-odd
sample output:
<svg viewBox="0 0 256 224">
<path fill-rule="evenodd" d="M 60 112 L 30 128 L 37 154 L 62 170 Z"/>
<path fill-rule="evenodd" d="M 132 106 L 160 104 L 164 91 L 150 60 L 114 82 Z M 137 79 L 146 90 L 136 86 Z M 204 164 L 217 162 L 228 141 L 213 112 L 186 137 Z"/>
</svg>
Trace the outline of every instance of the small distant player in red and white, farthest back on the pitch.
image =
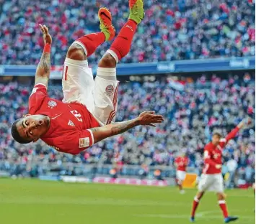
<svg viewBox="0 0 256 224">
<path fill-rule="evenodd" d="M 186 177 L 187 164 L 188 164 L 188 158 L 185 156 L 185 154 L 175 159 L 175 166 L 177 167 L 177 170 L 176 170 L 177 185 L 180 189 L 181 194 L 185 193 L 185 191 L 182 188 L 182 182 Z"/>
</svg>

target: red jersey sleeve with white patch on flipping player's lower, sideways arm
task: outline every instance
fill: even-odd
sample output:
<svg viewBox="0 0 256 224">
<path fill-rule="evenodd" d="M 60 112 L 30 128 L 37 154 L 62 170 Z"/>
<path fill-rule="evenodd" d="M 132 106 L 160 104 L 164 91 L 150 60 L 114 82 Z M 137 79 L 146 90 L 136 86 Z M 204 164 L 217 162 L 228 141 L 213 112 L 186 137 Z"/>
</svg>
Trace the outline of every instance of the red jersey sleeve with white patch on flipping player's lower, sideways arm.
<svg viewBox="0 0 256 224">
<path fill-rule="evenodd" d="M 75 131 L 74 133 L 65 136 L 63 147 L 61 148 L 69 154 L 79 154 L 93 144 L 94 137 L 92 131 L 87 129 L 83 131 Z"/>
</svg>

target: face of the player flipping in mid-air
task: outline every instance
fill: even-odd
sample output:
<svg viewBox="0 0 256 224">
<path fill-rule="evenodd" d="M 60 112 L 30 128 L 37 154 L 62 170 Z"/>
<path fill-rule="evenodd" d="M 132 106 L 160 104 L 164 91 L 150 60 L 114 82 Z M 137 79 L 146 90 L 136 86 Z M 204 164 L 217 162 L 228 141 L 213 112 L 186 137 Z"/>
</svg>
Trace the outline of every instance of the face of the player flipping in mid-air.
<svg viewBox="0 0 256 224">
<path fill-rule="evenodd" d="M 27 114 L 17 123 L 17 129 L 22 139 L 37 141 L 48 131 L 49 123 L 50 119 L 47 116 Z"/>
</svg>

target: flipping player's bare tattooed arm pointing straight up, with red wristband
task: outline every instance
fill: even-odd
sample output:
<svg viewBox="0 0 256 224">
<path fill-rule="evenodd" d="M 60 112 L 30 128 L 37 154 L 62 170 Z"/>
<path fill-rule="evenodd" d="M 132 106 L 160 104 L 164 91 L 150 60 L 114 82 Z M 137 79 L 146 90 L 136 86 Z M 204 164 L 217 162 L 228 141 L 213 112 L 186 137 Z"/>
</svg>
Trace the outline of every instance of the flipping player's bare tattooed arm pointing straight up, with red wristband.
<svg viewBox="0 0 256 224">
<path fill-rule="evenodd" d="M 48 27 L 39 24 L 40 29 L 43 33 L 43 41 L 45 42 L 45 47 L 43 49 L 43 54 L 41 56 L 40 62 L 37 65 L 37 70 L 35 73 L 35 85 L 40 83 L 44 84 L 47 88 L 48 80 L 50 77 L 50 45 L 52 43 L 52 38 L 48 32 Z"/>
</svg>

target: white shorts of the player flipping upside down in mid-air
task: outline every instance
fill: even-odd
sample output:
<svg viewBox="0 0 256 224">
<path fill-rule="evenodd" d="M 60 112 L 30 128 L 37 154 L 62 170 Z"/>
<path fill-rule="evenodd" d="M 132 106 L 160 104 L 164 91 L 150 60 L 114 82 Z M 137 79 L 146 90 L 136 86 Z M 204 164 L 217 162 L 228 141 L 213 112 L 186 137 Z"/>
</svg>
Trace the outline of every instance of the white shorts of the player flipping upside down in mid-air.
<svg viewBox="0 0 256 224">
<path fill-rule="evenodd" d="M 100 126 L 115 121 L 118 108 L 118 81 L 93 79 L 88 61 L 66 57 L 62 75 L 63 103 L 81 103 Z"/>
</svg>

